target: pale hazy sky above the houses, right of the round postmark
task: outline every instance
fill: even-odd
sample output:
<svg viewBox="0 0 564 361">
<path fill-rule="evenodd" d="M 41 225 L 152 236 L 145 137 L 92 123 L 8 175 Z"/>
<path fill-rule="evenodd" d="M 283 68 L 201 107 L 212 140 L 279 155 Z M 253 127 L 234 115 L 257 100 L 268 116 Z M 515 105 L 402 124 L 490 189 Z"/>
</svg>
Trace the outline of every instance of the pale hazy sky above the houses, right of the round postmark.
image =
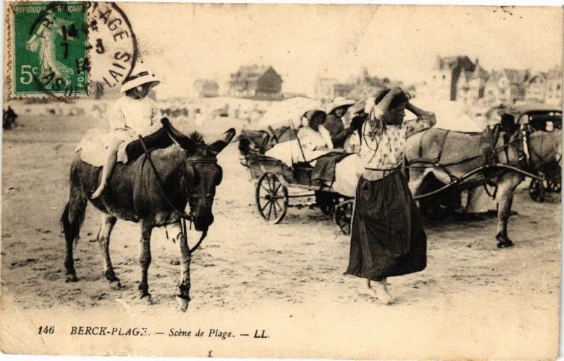
<svg viewBox="0 0 564 361">
<path fill-rule="evenodd" d="M 424 80 L 436 56 L 465 54 L 491 68 L 548 70 L 561 62 L 562 10 L 478 6 L 119 4 L 143 61 L 182 96 L 196 78 L 272 65 L 284 92 L 312 92 L 317 75 L 346 80 L 366 66 Z"/>
</svg>

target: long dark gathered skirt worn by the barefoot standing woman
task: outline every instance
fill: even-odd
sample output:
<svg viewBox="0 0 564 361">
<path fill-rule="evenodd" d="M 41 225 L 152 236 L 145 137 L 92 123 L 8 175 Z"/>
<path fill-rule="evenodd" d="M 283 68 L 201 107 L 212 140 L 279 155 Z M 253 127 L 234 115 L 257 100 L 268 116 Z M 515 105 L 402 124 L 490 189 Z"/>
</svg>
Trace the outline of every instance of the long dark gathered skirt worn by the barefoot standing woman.
<svg viewBox="0 0 564 361">
<path fill-rule="evenodd" d="M 427 235 L 400 171 L 379 181 L 360 178 L 345 274 L 381 281 L 427 267 Z"/>
</svg>

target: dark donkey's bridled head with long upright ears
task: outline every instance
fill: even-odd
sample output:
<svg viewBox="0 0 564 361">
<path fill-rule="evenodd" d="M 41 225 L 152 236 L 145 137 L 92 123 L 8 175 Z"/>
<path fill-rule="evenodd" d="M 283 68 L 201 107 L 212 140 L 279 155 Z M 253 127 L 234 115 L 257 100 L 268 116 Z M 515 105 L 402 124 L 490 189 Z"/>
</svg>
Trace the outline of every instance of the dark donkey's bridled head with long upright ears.
<svg viewBox="0 0 564 361">
<path fill-rule="evenodd" d="M 216 155 L 231 142 L 234 135 L 235 129 L 231 128 L 210 145 L 206 145 L 202 135 L 198 133 L 178 140 L 180 147 L 186 151 L 182 169 L 183 187 L 197 231 L 207 231 L 214 222 L 212 205 L 216 187 L 223 178 Z"/>
</svg>

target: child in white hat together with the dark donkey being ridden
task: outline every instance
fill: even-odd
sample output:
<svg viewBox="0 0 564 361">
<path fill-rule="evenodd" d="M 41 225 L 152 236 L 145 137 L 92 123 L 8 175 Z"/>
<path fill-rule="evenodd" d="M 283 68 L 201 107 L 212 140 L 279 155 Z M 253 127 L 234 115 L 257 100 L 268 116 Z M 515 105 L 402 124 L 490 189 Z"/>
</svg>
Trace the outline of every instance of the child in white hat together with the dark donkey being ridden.
<svg viewBox="0 0 564 361">
<path fill-rule="evenodd" d="M 159 111 L 147 98 L 158 83 L 159 80 L 147 72 L 126 79 L 121 89 L 125 96 L 118 99 L 109 114 L 111 133 L 99 135 L 99 130 L 94 129 L 78 145 L 78 154 L 71 164 L 68 203 L 61 215 L 66 241 L 64 265 L 66 281 L 78 281 L 73 247 L 90 202 L 102 212 L 97 240 L 104 257 L 104 277 L 111 288 L 121 288 L 111 264 L 111 232 L 118 219 L 138 223 L 141 228 L 138 288 L 140 297 L 150 303 L 147 275 L 152 259 L 151 234 L 156 227 L 166 227 L 167 235 L 171 235 L 180 250 L 181 278 L 176 301 L 185 311 L 190 302 L 191 254 L 214 222 L 214 196 L 223 178 L 216 156 L 231 142 L 235 130 L 227 130 L 209 145 L 199 133 L 183 135 L 178 132 L 166 118 L 159 120 Z M 137 139 L 139 137 L 141 139 Z M 102 145 L 106 148 L 105 163 L 99 157 Z M 102 165 L 100 176 L 99 166 Z M 188 247 L 186 220 L 196 231 L 202 232 L 200 240 L 191 248 Z"/>
</svg>

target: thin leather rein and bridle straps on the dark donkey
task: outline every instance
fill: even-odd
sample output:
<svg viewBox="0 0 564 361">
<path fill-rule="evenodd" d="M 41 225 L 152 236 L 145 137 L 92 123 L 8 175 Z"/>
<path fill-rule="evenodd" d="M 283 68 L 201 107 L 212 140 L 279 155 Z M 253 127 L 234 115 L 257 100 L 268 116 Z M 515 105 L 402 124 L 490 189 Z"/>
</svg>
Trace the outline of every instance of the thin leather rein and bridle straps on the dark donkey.
<svg viewBox="0 0 564 361">
<path fill-rule="evenodd" d="M 188 221 L 190 221 L 190 229 L 192 229 L 192 221 L 193 221 L 193 217 L 192 217 L 192 210 L 190 210 L 189 214 L 186 214 L 185 211 L 180 210 L 178 208 L 176 208 L 174 206 L 174 204 L 172 204 L 171 200 L 168 199 L 168 197 L 166 196 L 166 192 L 164 190 L 164 181 L 162 180 L 161 176 L 159 175 L 159 172 L 157 171 L 157 167 L 154 166 L 153 163 L 153 159 L 151 158 L 151 154 L 149 154 L 149 150 L 147 149 L 147 145 L 145 145 L 145 141 L 143 140 L 143 137 L 141 135 L 139 135 L 139 141 L 141 143 L 141 146 L 143 147 L 143 152 L 145 152 L 145 156 L 147 157 L 147 160 L 149 161 L 149 164 L 151 165 L 151 168 L 153 169 L 154 175 L 157 178 L 157 185 L 159 185 L 159 189 L 161 190 L 161 193 L 163 194 L 164 200 L 166 200 L 166 203 L 168 203 L 168 206 L 170 206 L 174 212 L 176 212 L 179 216 L 180 219 L 182 219 L 182 223 L 180 224 L 180 228 L 182 229 L 182 235 L 188 239 L 188 230 L 186 229 L 186 220 L 188 219 Z M 217 159 L 214 157 L 186 157 L 183 161 L 184 164 L 197 164 L 197 163 L 217 163 Z M 184 167 L 182 168 L 184 169 Z M 195 194 L 190 194 L 188 195 L 188 197 L 190 198 L 204 198 L 204 197 L 213 197 L 214 194 L 213 193 L 195 193 Z M 200 245 L 202 244 L 202 241 L 204 240 L 204 238 L 206 238 L 207 236 L 207 231 L 203 231 L 202 235 L 200 236 L 200 240 L 198 240 L 198 242 L 196 243 L 196 245 L 194 247 L 192 247 L 192 249 L 188 248 L 188 254 L 191 255 L 192 252 L 194 252 L 195 250 L 197 250 L 198 247 L 200 247 Z"/>
</svg>

